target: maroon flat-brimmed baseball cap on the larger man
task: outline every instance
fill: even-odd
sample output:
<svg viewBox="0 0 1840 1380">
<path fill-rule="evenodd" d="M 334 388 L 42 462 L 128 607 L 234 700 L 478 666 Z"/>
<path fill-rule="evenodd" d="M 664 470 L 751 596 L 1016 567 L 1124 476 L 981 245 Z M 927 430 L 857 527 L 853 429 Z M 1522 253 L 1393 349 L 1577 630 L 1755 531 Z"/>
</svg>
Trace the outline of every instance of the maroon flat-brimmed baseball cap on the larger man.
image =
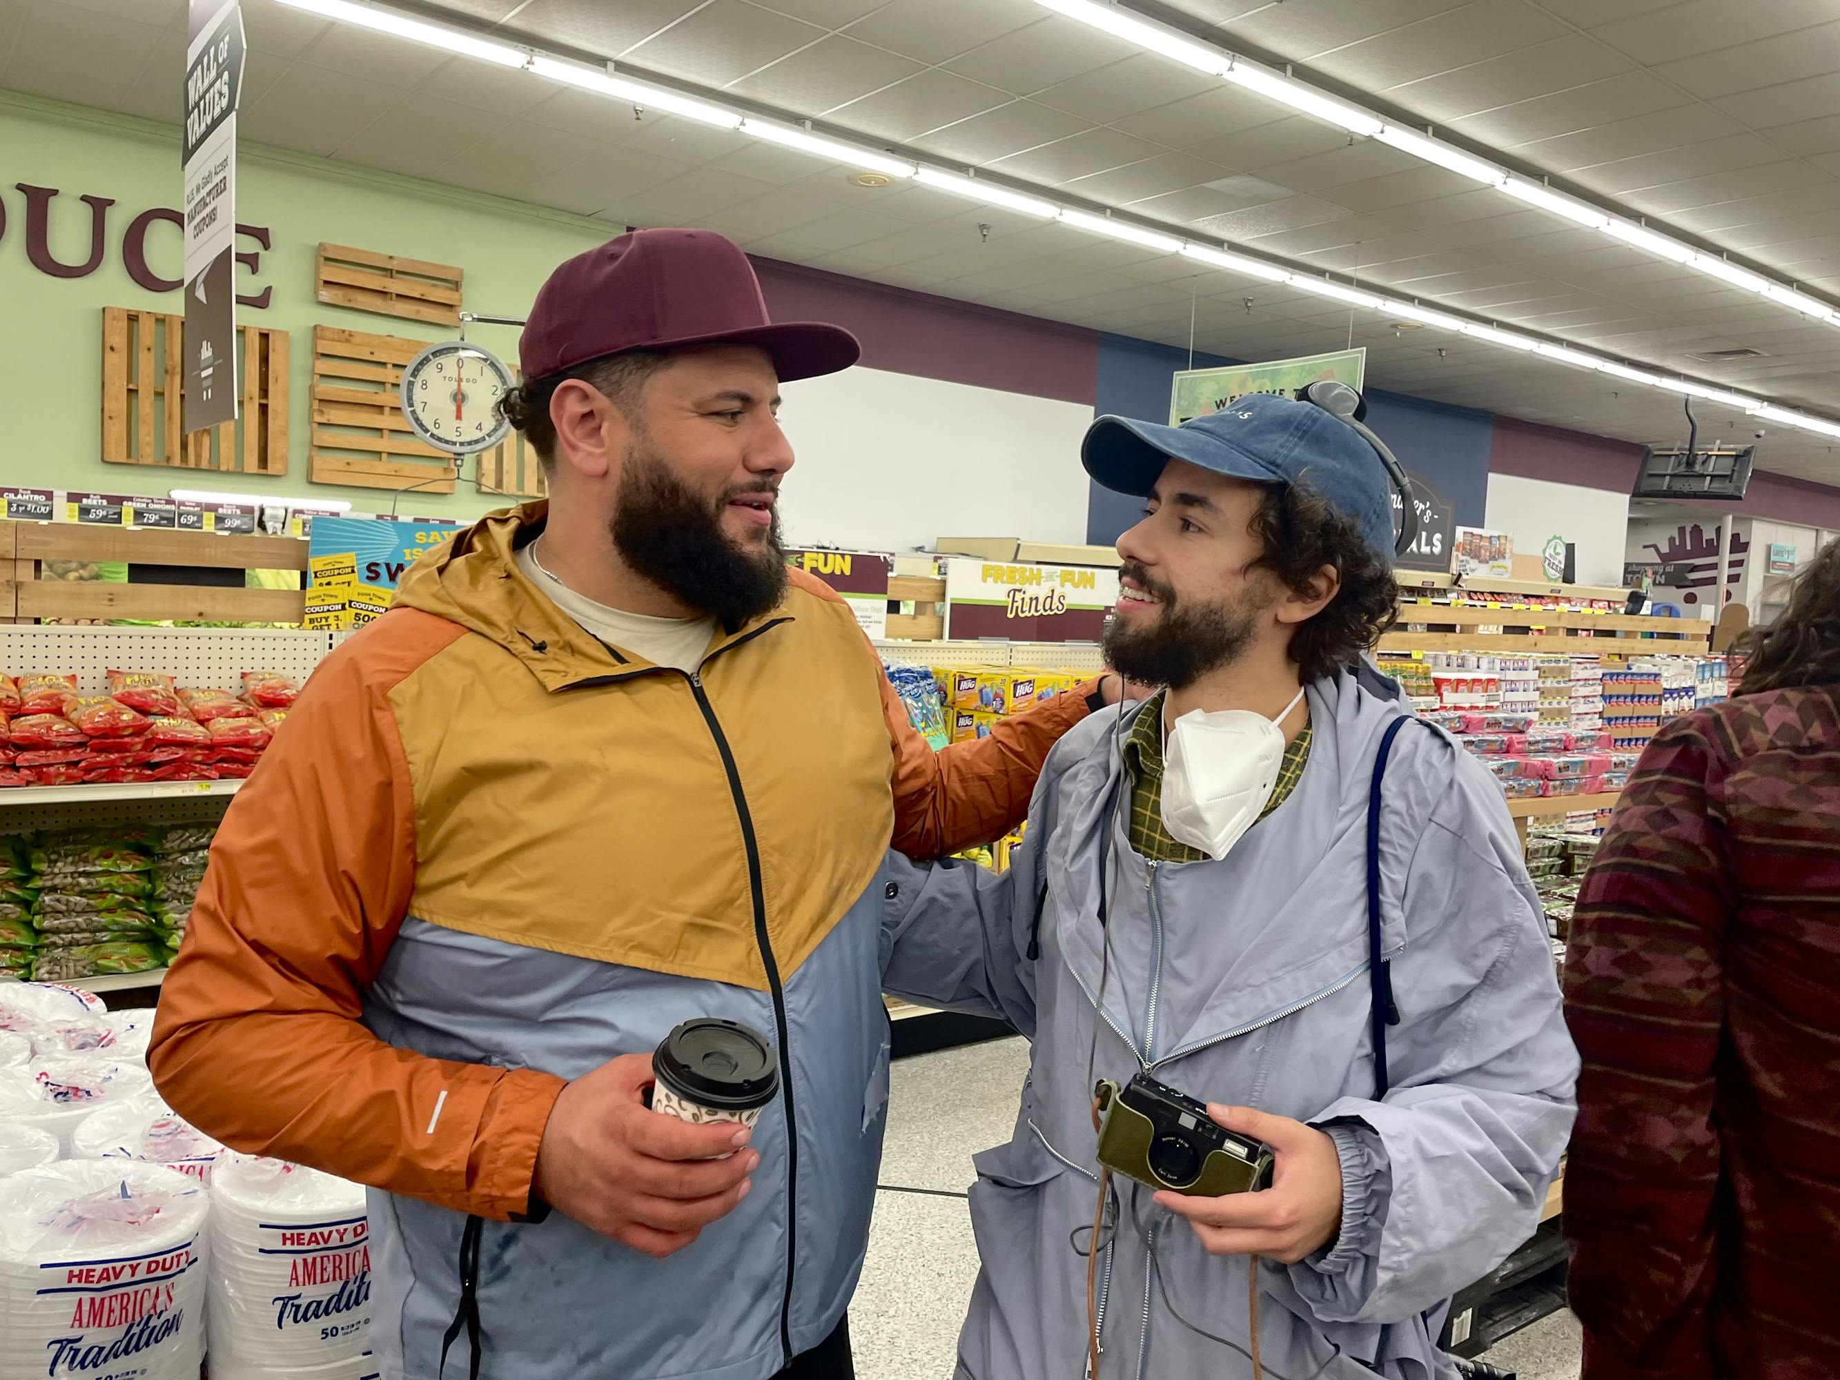
<svg viewBox="0 0 1840 1380">
<path fill-rule="evenodd" d="M 754 265 L 714 230 L 633 230 L 561 263 L 537 291 L 517 359 L 541 379 L 622 350 L 753 344 L 780 381 L 850 368 L 863 353 L 841 326 L 771 322 Z"/>
</svg>

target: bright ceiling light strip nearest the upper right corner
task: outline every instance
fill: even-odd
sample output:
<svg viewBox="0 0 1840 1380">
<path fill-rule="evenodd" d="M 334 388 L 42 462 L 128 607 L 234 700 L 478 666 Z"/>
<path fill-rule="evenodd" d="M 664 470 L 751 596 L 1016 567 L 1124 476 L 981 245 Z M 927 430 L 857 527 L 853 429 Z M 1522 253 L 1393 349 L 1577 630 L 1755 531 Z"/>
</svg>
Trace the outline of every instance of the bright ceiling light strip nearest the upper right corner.
<svg viewBox="0 0 1840 1380">
<path fill-rule="evenodd" d="M 1190 39 L 1179 29 L 1135 13 L 1121 4 L 1121 0 L 1036 0 L 1036 4 L 1065 15 L 1067 18 L 1078 20 L 1080 24 L 1087 24 L 1113 37 L 1135 42 L 1146 52 L 1161 53 L 1163 57 L 1172 57 L 1178 63 L 1198 68 L 1200 72 L 1218 75 L 1224 81 L 1231 81 L 1246 90 L 1257 92 L 1259 96 L 1279 101 L 1292 110 L 1314 116 L 1316 120 L 1325 120 L 1330 125 L 1349 131 L 1351 134 L 1378 140 L 1380 144 L 1387 144 L 1400 153 L 1408 153 L 1413 158 L 1428 162 L 1435 167 L 1457 173 L 1459 177 L 1468 177 L 1507 197 L 1514 197 L 1527 206 L 1547 212 L 1549 215 L 1558 215 L 1573 224 L 1606 234 L 1623 245 L 1641 250 L 1643 254 L 1652 254 L 1667 263 L 1678 263 L 1685 269 L 1719 278 L 1731 287 L 1755 293 L 1770 302 L 1788 307 L 1790 311 L 1800 311 L 1803 316 L 1827 324 L 1840 324 L 1840 311 L 1825 302 L 1816 302 L 1792 287 L 1774 283 L 1748 269 L 1739 269 L 1720 258 L 1704 254 L 1673 236 L 1650 230 L 1638 221 L 1612 215 L 1610 212 L 1599 210 L 1597 206 L 1579 201 L 1577 197 L 1568 197 L 1566 193 L 1553 191 L 1540 182 L 1518 177 L 1507 167 L 1501 167 L 1489 158 L 1466 153 L 1465 149 L 1446 144 L 1433 134 L 1391 123 L 1373 110 L 1365 110 L 1330 96 L 1328 92 L 1305 81 L 1297 81 L 1288 72 L 1277 72 L 1275 68 L 1268 68 L 1248 57 L 1231 53 L 1225 48 L 1216 48 L 1205 40 Z"/>
</svg>

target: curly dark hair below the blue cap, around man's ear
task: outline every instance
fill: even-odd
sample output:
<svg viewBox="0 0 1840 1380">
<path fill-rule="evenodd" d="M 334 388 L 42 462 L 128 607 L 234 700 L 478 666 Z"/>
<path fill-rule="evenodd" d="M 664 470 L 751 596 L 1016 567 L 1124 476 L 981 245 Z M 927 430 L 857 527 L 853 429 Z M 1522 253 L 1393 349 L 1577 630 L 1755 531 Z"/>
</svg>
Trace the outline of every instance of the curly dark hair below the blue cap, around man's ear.
<svg viewBox="0 0 1840 1380">
<path fill-rule="evenodd" d="M 1305 681 L 1352 666 L 1398 618 L 1391 559 L 1367 545 L 1360 523 L 1338 513 L 1314 489 L 1270 486 L 1249 530 L 1264 546 L 1253 565 L 1294 594 L 1310 594 L 1325 565 L 1341 580 L 1328 605 L 1290 635 L 1290 659 Z"/>
</svg>

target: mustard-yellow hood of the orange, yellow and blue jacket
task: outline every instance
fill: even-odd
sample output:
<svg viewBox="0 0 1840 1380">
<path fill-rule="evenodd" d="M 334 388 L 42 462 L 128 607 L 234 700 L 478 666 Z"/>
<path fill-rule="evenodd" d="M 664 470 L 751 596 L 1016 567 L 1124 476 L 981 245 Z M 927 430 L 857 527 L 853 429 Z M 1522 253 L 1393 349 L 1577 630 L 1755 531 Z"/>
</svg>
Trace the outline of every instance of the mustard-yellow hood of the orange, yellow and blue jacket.
<svg viewBox="0 0 1840 1380">
<path fill-rule="evenodd" d="M 396 605 L 432 613 L 497 642 L 550 690 L 657 670 L 644 657 L 598 640 L 517 569 L 517 550 L 543 534 L 548 515 L 545 499 L 486 513 L 460 528 L 410 565 L 396 591 Z M 788 616 L 782 604 L 730 629 L 710 653 Z"/>
</svg>

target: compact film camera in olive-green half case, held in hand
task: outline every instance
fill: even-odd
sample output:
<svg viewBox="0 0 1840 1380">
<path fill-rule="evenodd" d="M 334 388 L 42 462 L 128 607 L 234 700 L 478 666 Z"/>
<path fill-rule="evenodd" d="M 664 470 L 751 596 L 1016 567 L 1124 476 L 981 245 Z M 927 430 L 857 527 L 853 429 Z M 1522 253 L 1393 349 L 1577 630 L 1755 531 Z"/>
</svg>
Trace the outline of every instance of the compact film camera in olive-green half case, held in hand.
<svg viewBox="0 0 1840 1380">
<path fill-rule="evenodd" d="M 1220 1198 L 1271 1187 L 1271 1152 L 1216 1126 L 1207 1108 L 1139 1073 L 1124 1087 L 1100 1078 L 1098 1163 L 1152 1189 Z"/>
</svg>

